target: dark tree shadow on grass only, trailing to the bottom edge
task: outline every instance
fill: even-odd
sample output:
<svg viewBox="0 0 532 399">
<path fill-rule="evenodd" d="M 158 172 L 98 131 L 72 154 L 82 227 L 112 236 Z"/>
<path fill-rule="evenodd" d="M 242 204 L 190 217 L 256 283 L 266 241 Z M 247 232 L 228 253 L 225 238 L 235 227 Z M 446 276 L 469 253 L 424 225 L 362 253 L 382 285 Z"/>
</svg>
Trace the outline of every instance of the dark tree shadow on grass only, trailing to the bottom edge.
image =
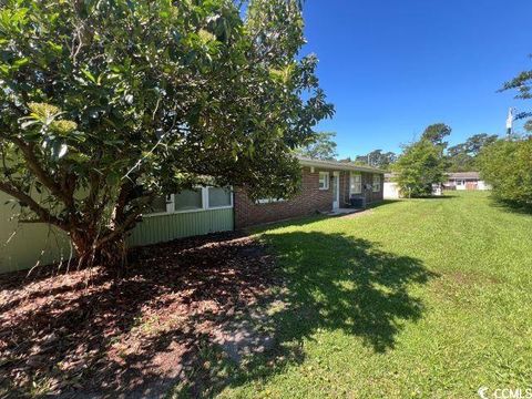
<svg viewBox="0 0 532 399">
<path fill-rule="evenodd" d="M 437 277 L 419 259 L 342 234 L 274 232 L 263 238 L 278 254 L 284 282 L 280 294 L 268 299 L 277 303 L 269 307 L 269 318 L 257 323 L 274 345 L 239 364 L 209 357 L 211 367 L 232 376 L 225 380 L 214 377 L 209 383 L 214 392 L 260 381 L 283 372 L 287 365 L 301 364 L 305 341 L 318 331 L 341 330 L 375 352 L 392 350 L 405 325 L 418 321 L 424 311 L 410 288 Z M 198 391 L 197 386 L 193 391 Z"/>
</svg>

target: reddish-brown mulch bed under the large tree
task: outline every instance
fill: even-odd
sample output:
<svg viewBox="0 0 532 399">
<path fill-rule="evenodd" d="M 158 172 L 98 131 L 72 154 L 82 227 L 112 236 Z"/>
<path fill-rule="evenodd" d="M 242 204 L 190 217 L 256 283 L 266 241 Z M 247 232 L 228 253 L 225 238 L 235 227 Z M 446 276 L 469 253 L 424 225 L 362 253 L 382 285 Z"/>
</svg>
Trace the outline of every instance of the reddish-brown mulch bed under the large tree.
<svg viewBox="0 0 532 399">
<path fill-rule="evenodd" d="M 236 233 L 130 258 L 120 279 L 103 267 L 0 276 L 0 397 L 158 397 L 273 284 L 273 259 Z"/>
</svg>

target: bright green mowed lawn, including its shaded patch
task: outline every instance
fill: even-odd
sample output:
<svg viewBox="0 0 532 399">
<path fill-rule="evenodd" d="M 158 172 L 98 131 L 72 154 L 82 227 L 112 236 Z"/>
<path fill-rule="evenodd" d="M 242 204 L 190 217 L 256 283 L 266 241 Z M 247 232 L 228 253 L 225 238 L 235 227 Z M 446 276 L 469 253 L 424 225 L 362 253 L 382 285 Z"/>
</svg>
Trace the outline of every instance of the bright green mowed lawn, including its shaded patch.
<svg viewBox="0 0 532 399">
<path fill-rule="evenodd" d="M 259 233 L 289 304 L 222 397 L 477 398 L 532 385 L 532 216 L 484 193 Z M 227 372 L 227 371 L 226 371 Z"/>
</svg>

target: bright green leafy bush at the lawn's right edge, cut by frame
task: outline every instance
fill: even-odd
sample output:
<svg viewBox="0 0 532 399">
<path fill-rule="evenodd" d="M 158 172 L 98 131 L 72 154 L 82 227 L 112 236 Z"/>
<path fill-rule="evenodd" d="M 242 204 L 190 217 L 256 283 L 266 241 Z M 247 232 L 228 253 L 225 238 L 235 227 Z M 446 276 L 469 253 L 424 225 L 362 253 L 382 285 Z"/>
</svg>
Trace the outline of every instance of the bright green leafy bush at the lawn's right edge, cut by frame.
<svg viewBox="0 0 532 399">
<path fill-rule="evenodd" d="M 499 140 L 480 156 L 481 176 L 497 198 L 532 206 L 532 137 Z"/>
</svg>

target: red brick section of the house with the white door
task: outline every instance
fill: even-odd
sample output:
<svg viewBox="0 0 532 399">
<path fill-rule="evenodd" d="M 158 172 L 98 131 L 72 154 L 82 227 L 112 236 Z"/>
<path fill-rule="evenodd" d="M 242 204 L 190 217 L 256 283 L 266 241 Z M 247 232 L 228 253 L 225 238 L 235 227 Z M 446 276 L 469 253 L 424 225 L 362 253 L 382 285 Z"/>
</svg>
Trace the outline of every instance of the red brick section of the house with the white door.
<svg viewBox="0 0 532 399">
<path fill-rule="evenodd" d="M 382 200 L 383 172 L 380 170 L 305 157 L 299 157 L 299 162 L 301 191 L 291 200 L 253 202 L 244 190 L 235 188 L 235 228 L 350 207 L 352 197 L 364 198 L 365 204 Z"/>
</svg>

